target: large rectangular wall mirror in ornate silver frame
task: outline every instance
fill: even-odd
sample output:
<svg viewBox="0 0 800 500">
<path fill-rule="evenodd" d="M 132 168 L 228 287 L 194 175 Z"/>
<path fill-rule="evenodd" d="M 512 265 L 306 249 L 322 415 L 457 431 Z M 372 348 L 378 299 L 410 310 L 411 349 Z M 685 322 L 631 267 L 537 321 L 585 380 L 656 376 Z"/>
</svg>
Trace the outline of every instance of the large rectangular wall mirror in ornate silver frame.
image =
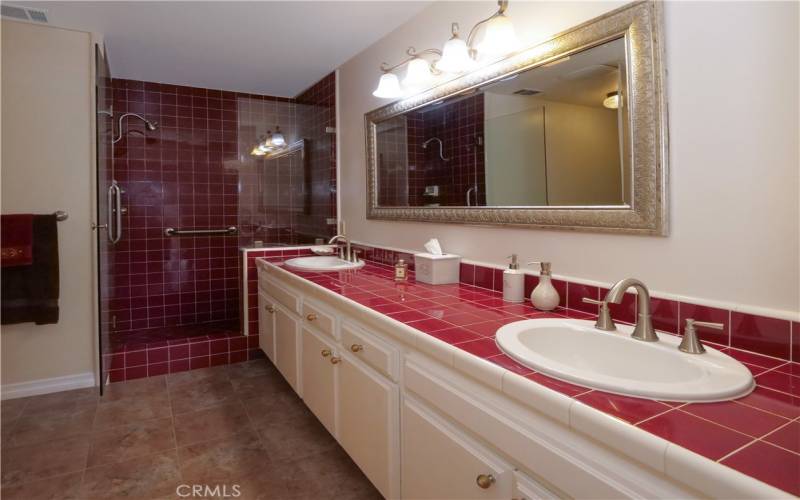
<svg viewBox="0 0 800 500">
<path fill-rule="evenodd" d="M 367 217 L 665 235 L 659 6 L 366 115 Z"/>
</svg>

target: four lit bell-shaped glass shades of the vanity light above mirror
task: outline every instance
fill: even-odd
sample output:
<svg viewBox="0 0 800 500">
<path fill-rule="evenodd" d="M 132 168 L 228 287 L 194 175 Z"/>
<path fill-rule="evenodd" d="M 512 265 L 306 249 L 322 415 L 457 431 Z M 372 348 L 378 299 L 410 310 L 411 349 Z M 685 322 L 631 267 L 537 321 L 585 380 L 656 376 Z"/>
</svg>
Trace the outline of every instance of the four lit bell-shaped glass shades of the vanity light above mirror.
<svg viewBox="0 0 800 500">
<path fill-rule="evenodd" d="M 498 9 L 494 14 L 472 27 L 466 40 L 458 35 L 458 23 L 453 23 L 450 25 L 452 36 L 445 42 L 441 51 L 427 49 L 416 52 L 414 47 L 409 47 L 406 51 L 409 58 L 394 66 L 381 64 L 383 75 L 372 95 L 385 99 L 401 97 L 407 91 L 421 89 L 430 84 L 433 76 L 441 72 L 451 74 L 469 72 L 478 67 L 478 60 L 482 56 L 496 59 L 516 51 L 518 42 L 514 26 L 505 15 L 508 0 L 498 0 L 497 5 Z M 475 37 L 481 26 L 485 27 L 483 38 L 475 46 Z M 428 62 L 420 57 L 423 54 L 435 54 L 439 59 Z M 405 64 L 408 64 L 408 68 L 401 86 L 397 75 L 392 71 Z"/>
</svg>

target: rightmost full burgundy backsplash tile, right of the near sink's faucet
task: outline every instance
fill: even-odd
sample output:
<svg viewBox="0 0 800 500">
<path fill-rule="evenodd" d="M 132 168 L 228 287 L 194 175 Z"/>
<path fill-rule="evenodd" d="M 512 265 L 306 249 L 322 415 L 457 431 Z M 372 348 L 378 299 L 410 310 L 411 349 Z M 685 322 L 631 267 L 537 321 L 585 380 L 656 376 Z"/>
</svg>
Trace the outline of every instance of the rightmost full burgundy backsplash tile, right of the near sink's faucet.
<svg viewBox="0 0 800 500">
<path fill-rule="evenodd" d="M 731 313 L 731 346 L 789 359 L 791 323 L 754 314 Z"/>
</svg>

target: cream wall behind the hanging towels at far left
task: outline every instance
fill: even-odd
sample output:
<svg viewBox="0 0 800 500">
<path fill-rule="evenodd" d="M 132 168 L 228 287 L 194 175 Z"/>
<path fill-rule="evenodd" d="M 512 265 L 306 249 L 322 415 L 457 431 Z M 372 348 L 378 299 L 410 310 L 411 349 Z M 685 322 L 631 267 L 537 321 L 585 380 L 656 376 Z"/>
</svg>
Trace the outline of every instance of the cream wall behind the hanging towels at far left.
<svg viewBox="0 0 800 500">
<path fill-rule="evenodd" d="M 60 320 L 2 327 L 4 396 L 56 377 L 92 383 L 91 57 L 88 33 L 2 22 L 2 212 L 69 213 L 58 223 Z"/>
</svg>

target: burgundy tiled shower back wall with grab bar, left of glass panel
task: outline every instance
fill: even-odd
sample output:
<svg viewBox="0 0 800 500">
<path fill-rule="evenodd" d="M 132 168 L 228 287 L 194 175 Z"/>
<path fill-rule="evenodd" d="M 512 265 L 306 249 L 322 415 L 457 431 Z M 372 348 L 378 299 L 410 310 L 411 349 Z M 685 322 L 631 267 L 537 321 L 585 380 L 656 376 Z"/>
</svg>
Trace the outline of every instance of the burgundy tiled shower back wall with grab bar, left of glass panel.
<svg viewBox="0 0 800 500">
<path fill-rule="evenodd" d="M 124 233 L 113 251 L 112 331 L 235 319 L 235 236 L 167 237 L 164 229 L 237 224 L 237 94 L 114 80 L 114 114 L 127 118 L 114 147 L 125 194 Z"/>
</svg>

